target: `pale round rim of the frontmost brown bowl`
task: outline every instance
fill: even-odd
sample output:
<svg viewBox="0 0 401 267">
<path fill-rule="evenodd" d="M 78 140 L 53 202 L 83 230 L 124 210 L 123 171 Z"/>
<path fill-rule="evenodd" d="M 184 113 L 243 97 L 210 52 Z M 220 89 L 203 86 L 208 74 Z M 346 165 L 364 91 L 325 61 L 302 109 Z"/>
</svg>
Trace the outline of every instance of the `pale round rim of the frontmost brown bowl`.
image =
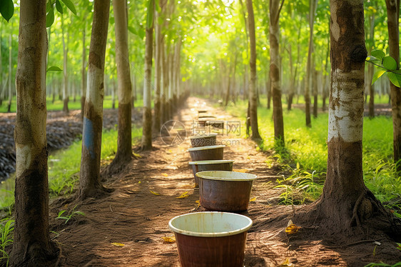
<svg viewBox="0 0 401 267">
<path fill-rule="evenodd" d="M 193 231 L 186 231 L 186 230 L 178 229 L 175 226 L 173 226 L 173 221 L 176 220 L 177 218 L 181 218 L 181 217 L 185 217 L 185 216 L 195 216 L 195 214 L 198 214 L 198 213 L 221 213 L 221 214 L 226 213 L 226 214 L 230 214 L 230 215 L 234 215 L 234 216 L 238 216 L 238 217 L 243 217 L 246 220 L 248 220 L 248 224 L 242 228 L 235 229 L 233 231 L 216 232 L 216 233 L 211 233 L 211 232 L 210 233 L 199 233 L 199 232 L 193 232 Z M 168 227 L 174 233 L 181 233 L 186 236 L 198 236 L 198 237 L 234 236 L 238 233 L 243 233 L 245 231 L 248 231 L 250 229 L 250 227 L 252 227 L 252 224 L 253 224 L 253 221 L 248 216 L 244 216 L 244 215 L 238 214 L 238 213 L 224 212 L 224 211 L 201 211 L 201 212 L 186 213 L 186 214 L 178 215 L 178 216 L 172 218 L 170 221 L 168 221 Z"/>
</svg>

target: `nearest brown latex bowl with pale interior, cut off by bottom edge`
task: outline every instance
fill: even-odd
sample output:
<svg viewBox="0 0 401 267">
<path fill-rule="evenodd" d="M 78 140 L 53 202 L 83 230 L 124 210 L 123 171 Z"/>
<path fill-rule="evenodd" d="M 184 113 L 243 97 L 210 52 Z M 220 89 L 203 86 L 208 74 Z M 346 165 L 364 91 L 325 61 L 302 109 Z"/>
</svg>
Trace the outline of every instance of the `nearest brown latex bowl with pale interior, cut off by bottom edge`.
<svg viewBox="0 0 401 267">
<path fill-rule="evenodd" d="M 197 212 L 168 222 L 176 235 L 183 267 L 243 267 L 245 242 L 252 220 L 227 212 Z"/>
</svg>

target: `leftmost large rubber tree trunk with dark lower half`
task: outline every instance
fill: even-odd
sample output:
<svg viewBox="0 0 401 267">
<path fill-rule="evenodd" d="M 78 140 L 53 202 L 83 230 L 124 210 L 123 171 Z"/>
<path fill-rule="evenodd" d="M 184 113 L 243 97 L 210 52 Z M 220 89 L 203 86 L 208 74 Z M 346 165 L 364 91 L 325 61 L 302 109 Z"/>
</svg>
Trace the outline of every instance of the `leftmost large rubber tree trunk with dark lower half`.
<svg viewBox="0 0 401 267">
<path fill-rule="evenodd" d="M 15 230 L 10 266 L 51 266 L 46 143 L 46 0 L 21 0 L 15 127 Z"/>
</svg>

